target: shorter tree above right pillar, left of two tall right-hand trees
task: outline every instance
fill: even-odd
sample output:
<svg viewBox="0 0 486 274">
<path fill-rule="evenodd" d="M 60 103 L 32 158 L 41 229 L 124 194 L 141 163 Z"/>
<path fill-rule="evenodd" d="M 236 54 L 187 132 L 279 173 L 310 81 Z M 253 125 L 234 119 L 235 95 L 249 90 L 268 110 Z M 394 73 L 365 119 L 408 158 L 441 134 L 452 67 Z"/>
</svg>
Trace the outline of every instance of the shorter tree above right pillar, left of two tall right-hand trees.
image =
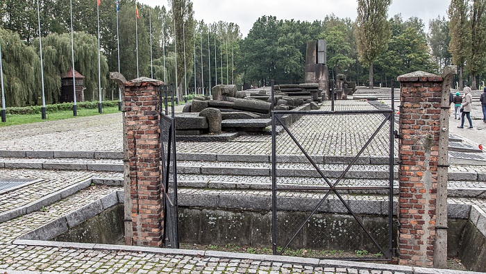
<svg viewBox="0 0 486 274">
<path fill-rule="evenodd" d="M 451 53 L 449 53 L 449 22 L 445 17 L 431 19 L 428 24 L 429 33 L 427 35 L 428 45 L 432 50 L 432 56 L 435 59 L 439 69 L 451 64 Z"/>
</svg>

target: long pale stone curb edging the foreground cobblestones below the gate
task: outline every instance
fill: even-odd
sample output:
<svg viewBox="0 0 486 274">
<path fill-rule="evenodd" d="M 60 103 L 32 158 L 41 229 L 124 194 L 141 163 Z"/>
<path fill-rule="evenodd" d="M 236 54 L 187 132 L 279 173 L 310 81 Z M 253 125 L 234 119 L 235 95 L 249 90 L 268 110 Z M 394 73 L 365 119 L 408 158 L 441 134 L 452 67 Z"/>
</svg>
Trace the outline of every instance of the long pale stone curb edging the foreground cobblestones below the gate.
<svg viewBox="0 0 486 274">
<path fill-rule="evenodd" d="M 184 249 L 170 249 L 170 248 L 151 248 L 142 246 L 115 246 L 107 244 L 97 243 L 70 243 L 70 242 L 58 242 L 58 241 L 35 241 L 35 240 L 21 240 L 17 239 L 13 241 L 13 244 L 19 246 L 48 246 L 56 248 L 76 248 L 85 250 L 112 250 L 112 251 L 124 251 L 124 252 L 146 252 L 155 254 L 167 254 L 167 255 L 185 255 L 193 257 L 215 257 L 224 259 L 248 259 L 259 262 L 278 262 L 281 264 L 299 264 L 315 267 L 336 267 L 336 268 L 353 268 L 356 270 L 376 270 L 376 271 L 393 271 L 401 272 L 405 274 L 419 274 L 419 273 L 449 273 L 449 274 L 480 274 L 478 272 L 469 271 L 453 271 L 447 269 L 434 269 L 434 268 L 421 268 L 412 266 L 399 266 L 392 264 L 374 264 L 365 262 L 351 262 L 351 261 L 339 261 L 329 259 L 314 259 L 304 257 L 289 257 L 278 255 L 255 255 L 247 253 L 237 252 L 222 252 L 212 250 L 184 250 Z M 12 272 L 13 273 L 13 272 Z M 17 272 L 22 273 L 22 272 Z"/>
</svg>

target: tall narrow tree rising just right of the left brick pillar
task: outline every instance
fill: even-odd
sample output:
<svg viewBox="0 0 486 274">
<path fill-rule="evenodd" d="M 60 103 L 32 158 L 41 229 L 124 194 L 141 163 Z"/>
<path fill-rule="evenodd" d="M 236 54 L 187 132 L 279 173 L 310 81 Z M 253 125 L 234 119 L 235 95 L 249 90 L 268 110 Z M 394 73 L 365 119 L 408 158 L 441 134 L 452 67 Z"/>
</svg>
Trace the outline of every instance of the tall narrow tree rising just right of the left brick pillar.
<svg viewBox="0 0 486 274">
<path fill-rule="evenodd" d="M 172 24 L 175 25 L 176 33 L 174 41 L 177 49 L 177 96 L 183 98 L 184 81 L 192 74 L 194 66 L 194 10 L 190 0 L 169 0 L 169 5 L 172 8 Z"/>
</svg>

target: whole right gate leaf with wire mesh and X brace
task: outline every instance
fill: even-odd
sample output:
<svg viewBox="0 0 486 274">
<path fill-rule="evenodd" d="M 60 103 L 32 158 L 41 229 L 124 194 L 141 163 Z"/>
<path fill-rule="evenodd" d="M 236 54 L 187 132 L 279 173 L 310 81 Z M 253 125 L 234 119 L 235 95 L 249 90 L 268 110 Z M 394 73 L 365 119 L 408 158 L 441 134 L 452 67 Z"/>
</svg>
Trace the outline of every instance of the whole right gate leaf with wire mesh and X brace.
<svg viewBox="0 0 486 274">
<path fill-rule="evenodd" d="M 393 92 L 392 89 L 392 94 Z M 274 97 L 274 92 L 272 92 L 272 97 Z M 298 250 L 297 255 L 306 255 L 305 253 L 308 250 L 303 247 L 307 246 L 308 248 L 308 243 L 312 243 L 324 249 L 321 254 L 341 252 L 342 255 L 339 256 L 338 254 L 337 256 L 340 259 L 374 261 L 392 259 L 394 105 L 392 103 L 391 110 L 376 110 L 375 108 L 352 110 L 353 107 L 349 107 L 349 105 L 346 108 L 348 109 L 339 110 L 340 106 L 337 105 L 337 110 L 335 110 L 333 102 L 331 110 L 272 112 L 271 177 L 272 247 L 274 255 L 292 255 L 296 254 L 295 250 Z M 289 116 L 299 117 L 301 127 L 296 126 L 296 124 L 287 126 L 287 121 L 296 120 L 289 119 Z M 336 123 L 340 123 L 340 125 L 336 125 L 335 130 L 327 132 L 317 130 L 318 137 L 315 139 L 321 140 L 322 143 L 312 144 L 310 139 L 315 136 L 309 137 L 308 132 L 310 130 L 305 127 L 319 127 L 322 123 L 329 121 L 337 121 Z M 371 123 L 374 127 L 368 127 L 367 132 L 364 133 L 356 132 L 360 130 L 360 126 L 355 123 L 362 121 L 366 121 L 367 125 Z M 283 128 L 283 131 L 277 137 L 276 129 L 278 128 Z M 346 132 L 342 135 L 336 135 L 336 130 L 340 129 Z M 349 156 L 347 157 L 342 157 L 346 161 L 340 164 L 326 164 L 326 161 L 323 160 L 324 155 L 316 155 L 319 146 L 326 146 L 329 138 L 335 136 L 345 139 L 346 134 L 362 134 L 362 139 L 367 139 L 367 141 L 359 144 L 360 148 L 359 146 L 355 149 L 336 148 L 353 152 L 351 155 L 348 153 Z M 386 170 L 385 163 L 383 170 L 380 171 L 383 178 L 380 178 L 379 183 L 373 182 L 373 180 L 369 180 L 369 185 L 353 182 L 353 179 L 349 179 L 348 174 L 360 173 L 359 170 L 352 171 L 351 169 L 353 165 L 360 163 L 364 151 L 369 152 L 370 144 L 377 142 L 374 139 L 378 135 L 381 139 L 385 139 L 385 141 L 380 142 L 387 142 L 389 145 L 386 148 L 388 155 L 383 157 L 383 160 L 387 161 L 388 169 Z M 335 156 L 335 158 L 340 158 L 340 156 Z M 333 168 L 338 166 L 340 169 L 338 171 L 328 170 L 331 169 L 331 166 Z M 298 175 L 292 176 L 290 169 L 301 170 L 296 172 L 299 173 Z M 362 174 L 368 172 L 366 168 L 361 169 Z M 308 174 L 311 173 L 313 175 L 309 176 Z M 308 177 L 305 178 L 305 176 Z M 358 178 L 359 176 L 358 174 Z M 369 192 L 381 194 L 383 200 L 380 201 L 379 205 L 385 207 L 382 212 L 382 216 L 385 216 L 381 222 L 383 227 L 378 229 L 376 227 L 370 228 L 369 223 L 371 221 L 364 216 L 361 210 L 357 210 L 356 206 L 351 205 L 351 200 L 359 199 L 355 198 L 353 193 L 367 194 Z M 339 205 L 342 208 L 333 212 L 329 210 L 331 205 L 335 208 L 338 208 L 337 205 Z M 356 205 L 358 205 L 357 202 Z M 291 216 L 288 212 L 293 212 L 293 215 Z M 345 225 L 340 228 L 333 228 L 333 225 L 336 225 L 333 221 L 335 218 Z M 342 231 L 335 233 L 332 231 L 333 229 Z M 346 232 L 346 230 L 348 231 Z M 384 237 L 383 234 L 387 234 L 387 237 Z M 342 235 L 342 237 L 339 235 Z M 329 237 L 333 237 L 333 239 L 328 239 Z M 345 239 L 345 237 L 351 239 Z M 330 242 L 333 242 L 334 248 L 328 249 L 327 246 Z M 355 246 L 356 250 L 344 252 L 344 250 L 340 250 L 341 248 L 335 248 L 341 243 Z M 360 246 L 366 248 L 360 248 Z M 286 252 L 287 250 L 289 252 Z M 292 250 L 294 251 L 292 252 Z"/>
</svg>

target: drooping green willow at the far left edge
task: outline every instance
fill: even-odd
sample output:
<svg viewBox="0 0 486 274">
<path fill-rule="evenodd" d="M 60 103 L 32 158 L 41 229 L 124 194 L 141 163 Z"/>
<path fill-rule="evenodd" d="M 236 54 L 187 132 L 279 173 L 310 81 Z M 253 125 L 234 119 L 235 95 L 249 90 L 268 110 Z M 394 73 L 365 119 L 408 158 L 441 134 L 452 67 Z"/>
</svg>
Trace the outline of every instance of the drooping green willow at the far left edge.
<svg viewBox="0 0 486 274">
<path fill-rule="evenodd" d="M 40 95 L 40 58 L 17 33 L 0 28 L 3 84 L 8 107 L 37 103 Z"/>
</svg>

